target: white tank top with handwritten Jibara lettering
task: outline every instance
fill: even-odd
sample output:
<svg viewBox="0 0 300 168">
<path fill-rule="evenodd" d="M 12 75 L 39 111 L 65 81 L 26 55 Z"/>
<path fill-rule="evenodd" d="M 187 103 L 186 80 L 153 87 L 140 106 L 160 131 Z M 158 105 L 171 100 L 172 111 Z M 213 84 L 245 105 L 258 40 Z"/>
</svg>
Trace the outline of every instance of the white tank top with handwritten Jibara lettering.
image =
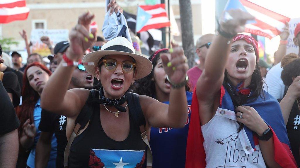
<svg viewBox="0 0 300 168">
<path fill-rule="evenodd" d="M 201 126 L 207 168 L 266 168 L 259 145 L 251 147 L 244 129 L 238 130 L 235 112 L 218 108 Z"/>
</svg>

